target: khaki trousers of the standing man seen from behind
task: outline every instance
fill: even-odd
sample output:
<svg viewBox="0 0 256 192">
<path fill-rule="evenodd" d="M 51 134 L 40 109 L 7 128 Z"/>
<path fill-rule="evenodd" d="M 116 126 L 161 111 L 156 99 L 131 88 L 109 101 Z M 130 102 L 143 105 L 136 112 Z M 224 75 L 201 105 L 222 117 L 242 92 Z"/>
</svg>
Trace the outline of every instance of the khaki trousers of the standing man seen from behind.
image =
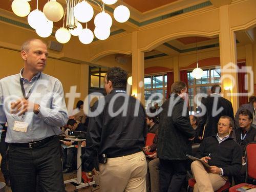
<svg viewBox="0 0 256 192">
<path fill-rule="evenodd" d="M 147 163 L 143 152 L 108 158 L 99 168 L 101 192 L 146 192 Z"/>
</svg>

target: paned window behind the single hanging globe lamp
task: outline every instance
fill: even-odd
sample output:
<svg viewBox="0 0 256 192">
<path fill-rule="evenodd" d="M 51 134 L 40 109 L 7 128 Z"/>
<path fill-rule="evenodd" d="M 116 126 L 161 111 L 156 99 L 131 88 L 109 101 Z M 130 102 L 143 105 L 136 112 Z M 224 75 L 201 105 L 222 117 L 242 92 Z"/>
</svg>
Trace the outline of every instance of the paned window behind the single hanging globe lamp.
<svg viewBox="0 0 256 192">
<path fill-rule="evenodd" d="M 198 97 L 197 99 L 201 101 L 203 96 L 210 93 L 211 86 L 220 84 L 221 82 L 220 68 L 204 69 L 201 79 L 193 78 L 191 73 L 192 71 L 187 72 L 189 115 L 200 112 L 200 106 L 197 106 L 195 102 L 196 96 Z"/>
</svg>

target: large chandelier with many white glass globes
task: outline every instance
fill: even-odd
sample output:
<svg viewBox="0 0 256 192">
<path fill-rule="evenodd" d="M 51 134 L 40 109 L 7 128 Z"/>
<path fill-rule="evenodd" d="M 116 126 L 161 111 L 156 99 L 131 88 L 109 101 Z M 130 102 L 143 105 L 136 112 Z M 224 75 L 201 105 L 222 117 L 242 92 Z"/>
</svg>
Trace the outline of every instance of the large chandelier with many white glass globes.
<svg viewBox="0 0 256 192">
<path fill-rule="evenodd" d="M 28 15 L 30 27 L 35 29 L 40 37 L 49 37 L 52 34 L 53 22 L 58 22 L 63 17 L 63 26 L 59 28 L 55 37 L 58 42 L 65 44 L 71 38 L 71 35 L 78 36 L 82 44 L 90 44 L 94 35 L 100 40 L 105 40 L 110 36 L 112 26 L 112 17 L 105 12 L 105 4 L 113 5 L 118 0 L 66 0 L 66 10 L 56 0 L 48 0 L 43 11 L 38 9 L 38 0 L 36 0 L 36 9 L 30 12 L 31 0 L 14 0 L 12 2 L 12 11 L 20 17 Z M 99 6 L 100 12 L 94 18 L 95 29 L 92 32 L 87 23 L 93 18 L 94 10 L 90 3 Z M 65 25 L 66 16 L 66 25 Z M 123 5 L 117 6 L 114 10 L 114 18 L 119 23 L 126 22 L 130 17 L 130 10 Z M 82 28 L 81 23 L 86 23 L 86 28 Z"/>
</svg>

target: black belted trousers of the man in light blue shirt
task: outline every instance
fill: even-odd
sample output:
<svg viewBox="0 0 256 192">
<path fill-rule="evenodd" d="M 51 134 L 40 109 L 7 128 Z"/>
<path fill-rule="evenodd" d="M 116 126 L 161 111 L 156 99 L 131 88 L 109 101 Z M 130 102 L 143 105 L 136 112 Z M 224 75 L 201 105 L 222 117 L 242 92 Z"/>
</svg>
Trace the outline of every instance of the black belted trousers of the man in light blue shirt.
<svg viewBox="0 0 256 192">
<path fill-rule="evenodd" d="M 12 192 L 63 192 L 65 186 L 61 169 L 61 148 L 54 137 L 42 146 L 9 147 L 9 170 Z"/>
</svg>

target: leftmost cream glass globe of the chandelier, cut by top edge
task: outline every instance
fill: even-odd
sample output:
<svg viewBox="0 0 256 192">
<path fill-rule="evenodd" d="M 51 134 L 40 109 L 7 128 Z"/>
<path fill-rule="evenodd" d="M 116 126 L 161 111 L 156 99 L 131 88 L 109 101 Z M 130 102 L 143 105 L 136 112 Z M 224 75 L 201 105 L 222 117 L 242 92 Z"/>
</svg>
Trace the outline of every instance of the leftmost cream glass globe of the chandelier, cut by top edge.
<svg viewBox="0 0 256 192">
<path fill-rule="evenodd" d="M 30 12 L 30 5 L 24 0 L 14 0 L 12 2 L 12 11 L 19 17 L 25 17 Z"/>
</svg>

